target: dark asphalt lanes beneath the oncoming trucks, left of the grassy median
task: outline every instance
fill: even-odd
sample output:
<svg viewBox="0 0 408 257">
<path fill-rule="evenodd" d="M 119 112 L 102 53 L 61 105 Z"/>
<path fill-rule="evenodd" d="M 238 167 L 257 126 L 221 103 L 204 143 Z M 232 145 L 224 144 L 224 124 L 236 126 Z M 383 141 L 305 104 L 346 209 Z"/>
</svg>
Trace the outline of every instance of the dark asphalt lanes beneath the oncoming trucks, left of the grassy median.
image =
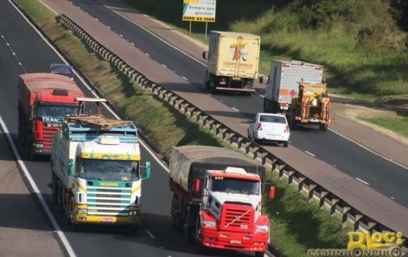
<svg viewBox="0 0 408 257">
<path fill-rule="evenodd" d="M 0 17 L 3 21 L 0 23 L 0 116 L 17 142 L 18 75 L 48 70 L 51 63 L 61 63 L 62 59 L 8 1 L 0 1 Z M 86 96 L 93 96 L 84 83 L 78 79 L 77 83 Z M 106 108 L 103 113 L 113 117 Z M 25 166 L 77 256 L 197 256 L 196 249 L 185 244 L 183 236 L 171 229 L 167 171 L 145 146 L 141 151 L 143 161 L 152 164 L 152 174 L 142 187 L 143 224 L 139 234 L 133 235 L 127 229 L 111 227 L 87 227 L 79 233 L 69 231 L 65 218 L 51 202 L 49 160 L 30 161 L 20 149 Z M 248 254 L 234 253 L 234 256 Z"/>
</svg>

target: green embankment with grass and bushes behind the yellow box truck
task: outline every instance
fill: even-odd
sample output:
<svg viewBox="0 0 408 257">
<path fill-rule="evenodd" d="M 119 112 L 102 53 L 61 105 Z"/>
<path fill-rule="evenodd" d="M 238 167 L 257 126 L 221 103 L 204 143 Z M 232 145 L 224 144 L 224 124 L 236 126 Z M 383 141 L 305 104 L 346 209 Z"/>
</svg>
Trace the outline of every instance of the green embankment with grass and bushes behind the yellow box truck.
<svg viewBox="0 0 408 257">
<path fill-rule="evenodd" d="M 182 2 L 122 1 L 188 35 L 188 22 L 181 21 Z M 163 4 L 165 9 L 156 8 Z M 217 1 L 216 22 L 209 23 L 209 30 L 261 35 L 259 70 L 264 74 L 272 59 L 324 64 L 331 93 L 408 106 L 405 34 L 387 8 L 380 0 Z M 207 43 L 204 32 L 203 23 L 193 23 L 194 39 Z M 407 137 L 407 113 L 361 118 Z"/>
</svg>

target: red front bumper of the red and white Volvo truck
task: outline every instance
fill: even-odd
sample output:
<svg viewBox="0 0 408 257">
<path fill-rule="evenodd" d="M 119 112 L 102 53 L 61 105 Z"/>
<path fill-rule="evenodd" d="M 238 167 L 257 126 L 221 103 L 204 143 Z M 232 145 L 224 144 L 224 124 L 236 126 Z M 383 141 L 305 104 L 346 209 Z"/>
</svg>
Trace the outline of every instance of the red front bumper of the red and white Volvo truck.
<svg viewBox="0 0 408 257">
<path fill-rule="evenodd" d="M 239 251 L 266 251 L 269 236 L 268 234 L 203 230 L 201 240 L 205 247 Z"/>
</svg>

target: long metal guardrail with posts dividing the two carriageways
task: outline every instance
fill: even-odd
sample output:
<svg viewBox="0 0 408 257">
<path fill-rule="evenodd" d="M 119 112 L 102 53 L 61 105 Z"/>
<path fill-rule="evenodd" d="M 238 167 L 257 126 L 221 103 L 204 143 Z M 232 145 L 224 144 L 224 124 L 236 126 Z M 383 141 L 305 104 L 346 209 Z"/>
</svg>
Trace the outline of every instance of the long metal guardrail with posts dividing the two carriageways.
<svg viewBox="0 0 408 257">
<path fill-rule="evenodd" d="M 393 229 L 380 224 L 380 222 L 376 222 L 366 214 L 358 211 L 358 209 L 351 207 L 350 204 L 331 193 L 328 189 L 325 189 L 313 180 L 310 180 L 310 178 L 307 178 L 301 171 L 296 171 L 289 164 L 279 160 L 279 158 L 259 144 L 249 140 L 244 135 L 235 132 L 225 124 L 214 120 L 211 115 L 194 106 L 183 97 L 167 90 L 164 86 L 151 82 L 145 77 L 145 75 L 131 68 L 131 66 L 120 59 L 120 57 L 93 39 L 91 35 L 78 26 L 74 21 L 66 17 L 66 15 L 58 15 L 56 19 L 62 24 L 62 26 L 64 26 L 64 28 L 72 30 L 75 35 L 84 40 L 95 52 L 99 53 L 99 55 L 104 57 L 107 61 L 110 61 L 111 64 L 114 64 L 120 71 L 122 71 L 122 73 L 127 75 L 129 79 L 132 79 L 135 84 L 134 86 L 142 86 L 142 88 L 150 89 L 153 95 L 157 95 L 160 99 L 171 104 L 171 106 L 174 106 L 174 108 L 180 113 L 186 115 L 189 119 L 195 119 L 196 122 L 213 131 L 217 137 L 225 142 L 229 142 L 232 147 L 237 148 L 242 153 L 245 153 L 245 155 L 248 155 L 250 158 L 261 162 L 262 165 L 272 169 L 272 172 L 277 173 L 279 178 L 283 176 L 288 178 L 288 184 L 297 185 L 298 191 L 306 192 L 309 200 L 315 198 L 319 201 L 319 207 L 326 206 L 330 208 L 331 215 L 340 213 L 342 215 L 343 227 L 346 226 L 346 222 L 349 220 L 354 224 L 354 231 L 365 230 L 370 231 L 371 233 L 377 231 L 393 231 Z M 403 248 L 407 251 L 408 240 L 406 237 L 404 237 Z M 274 253 L 275 249 L 271 250 L 272 253 Z M 279 255 L 280 254 L 277 253 L 277 256 Z"/>
</svg>

